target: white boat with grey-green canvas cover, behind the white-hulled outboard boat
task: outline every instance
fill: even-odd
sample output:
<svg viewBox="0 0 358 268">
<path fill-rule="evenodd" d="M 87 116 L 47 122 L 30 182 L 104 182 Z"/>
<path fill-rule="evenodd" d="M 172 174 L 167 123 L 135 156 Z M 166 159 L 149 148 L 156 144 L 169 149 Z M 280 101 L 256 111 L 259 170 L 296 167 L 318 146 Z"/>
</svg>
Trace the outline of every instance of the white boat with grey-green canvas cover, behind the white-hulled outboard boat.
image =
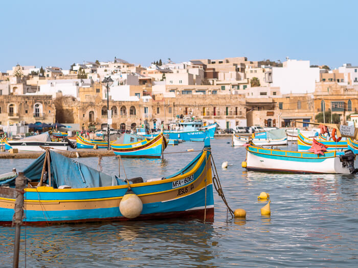
<svg viewBox="0 0 358 268">
<path fill-rule="evenodd" d="M 287 145 L 287 137 L 284 129 L 275 129 L 264 132 L 257 132 L 251 137 L 232 135 L 231 143 L 233 146 L 243 146 L 252 142 L 255 145 Z"/>
</svg>

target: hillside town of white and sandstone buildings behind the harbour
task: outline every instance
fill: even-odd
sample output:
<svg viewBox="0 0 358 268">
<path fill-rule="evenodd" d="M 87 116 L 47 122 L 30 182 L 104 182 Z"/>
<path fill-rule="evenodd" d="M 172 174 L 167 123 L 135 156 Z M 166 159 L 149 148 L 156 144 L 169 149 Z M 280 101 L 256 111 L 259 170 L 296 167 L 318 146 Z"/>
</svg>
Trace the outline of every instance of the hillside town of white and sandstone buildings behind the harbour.
<svg viewBox="0 0 358 268">
<path fill-rule="evenodd" d="M 16 134 L 31 123 L 58 122 L 106 129 L 107 109 L 110 128 L 121 131 L 167 128 L 178 117 L 220 129 L 309 128 L 294 121 L 347 124 L 357 107 L 358 66 L 350 63 L 330 69 L 288 57 L 282 63 L 235 57 L 160 59 L 144 67 L 115 57 L 69 67 L 17 64 L 0 72 L 0 128 Z"/>
</svg>

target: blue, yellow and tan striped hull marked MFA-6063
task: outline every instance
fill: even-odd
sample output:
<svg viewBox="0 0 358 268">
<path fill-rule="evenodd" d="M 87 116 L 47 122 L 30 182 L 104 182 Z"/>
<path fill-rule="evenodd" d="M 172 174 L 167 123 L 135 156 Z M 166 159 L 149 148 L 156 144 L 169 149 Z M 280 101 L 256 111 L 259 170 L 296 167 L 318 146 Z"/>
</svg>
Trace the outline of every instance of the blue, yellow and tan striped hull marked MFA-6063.
<svg viewBox="0 0 358 268">
<path fill-rule="evenodd" d="M 59 224 L 98 221 L 129 221 L 119 209 L 127 185 L 54 189 L 25 188 L 25 224 Z M 195 217 L 212 220 L 214 198 L 209 151 L 200 153 L 181 172 L 162 180 L 130 184 L 143 203 L 134 220 Z M 11 223 L 14 188 L 0 187 L 0 222 Z"/>
</svg>

